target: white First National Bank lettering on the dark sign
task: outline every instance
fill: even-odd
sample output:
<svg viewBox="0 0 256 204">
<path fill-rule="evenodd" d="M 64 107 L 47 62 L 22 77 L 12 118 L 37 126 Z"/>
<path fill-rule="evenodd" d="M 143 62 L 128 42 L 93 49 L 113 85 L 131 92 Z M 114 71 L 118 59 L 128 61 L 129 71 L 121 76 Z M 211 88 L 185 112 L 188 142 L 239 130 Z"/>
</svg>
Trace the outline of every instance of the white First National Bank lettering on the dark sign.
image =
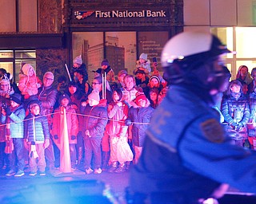
<svg viewBox="0 0 256 204">
<path fill-rule="evenodd" d="M 166 11 L 152 11 L 152 10 L 141 10 L 141 11 L 101 11 L 95 10 L 95 18 L 142 18 L 142 17 L 166 17 Z"/>
</svg>

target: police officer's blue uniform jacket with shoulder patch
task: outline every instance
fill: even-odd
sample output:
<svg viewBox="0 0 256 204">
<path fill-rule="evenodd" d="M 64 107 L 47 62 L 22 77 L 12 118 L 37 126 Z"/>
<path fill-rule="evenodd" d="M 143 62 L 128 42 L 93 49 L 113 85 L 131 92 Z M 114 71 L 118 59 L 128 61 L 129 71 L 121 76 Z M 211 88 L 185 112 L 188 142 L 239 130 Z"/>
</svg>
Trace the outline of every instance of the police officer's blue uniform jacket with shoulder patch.
<svg viewBox="0 0 256 204">
<path fill-rule="evenodd" d="M 256 193 L 256 155 L 230 144 L 215 111 L 197 95 L 172 85 L 154 112 L 130 174 L 133 192 L 176 204 L 208 198 L 221 183 Z"/>
</svg>

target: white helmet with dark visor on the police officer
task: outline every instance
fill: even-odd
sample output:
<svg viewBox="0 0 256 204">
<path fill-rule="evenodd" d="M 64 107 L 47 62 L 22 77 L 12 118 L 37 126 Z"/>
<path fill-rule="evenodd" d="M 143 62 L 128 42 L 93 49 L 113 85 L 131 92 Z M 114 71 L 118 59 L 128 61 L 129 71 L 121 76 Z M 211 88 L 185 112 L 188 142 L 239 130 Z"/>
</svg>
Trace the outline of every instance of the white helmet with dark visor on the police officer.
<svg viewBox="0 0 256 204">
<path fill-rule="evenodd" d="M 162 67 L 174 61 L 207 60 L 222 53 L 230 53 L 225 45 L 211 33 L 183 32 L 172 37 L 162 50 Z"/>
</svg>

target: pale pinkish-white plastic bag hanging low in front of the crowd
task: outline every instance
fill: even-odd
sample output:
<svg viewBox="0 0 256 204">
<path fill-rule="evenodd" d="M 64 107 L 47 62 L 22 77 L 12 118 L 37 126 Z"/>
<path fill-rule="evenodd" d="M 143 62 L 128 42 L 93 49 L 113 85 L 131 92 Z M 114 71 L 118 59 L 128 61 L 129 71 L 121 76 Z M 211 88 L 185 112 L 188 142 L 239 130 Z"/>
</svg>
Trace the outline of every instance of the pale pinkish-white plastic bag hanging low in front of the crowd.
<svg viewBox="0 0 256 204">
<path fill-rule="evenodd" d="M 117 143 L 117 157 L 119 163 L 132 161 L 134 159 L 134 154 L 130 150 L 130 146 L 126 141 L 126 137 L 120 137 Z"/>
</svg>

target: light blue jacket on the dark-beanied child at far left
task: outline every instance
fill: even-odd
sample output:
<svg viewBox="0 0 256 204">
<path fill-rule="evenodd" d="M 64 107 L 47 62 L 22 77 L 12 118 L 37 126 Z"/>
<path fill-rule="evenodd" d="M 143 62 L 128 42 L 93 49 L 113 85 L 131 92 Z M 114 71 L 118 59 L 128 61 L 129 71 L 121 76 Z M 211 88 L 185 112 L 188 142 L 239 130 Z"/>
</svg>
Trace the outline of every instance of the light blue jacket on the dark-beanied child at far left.
<svg viewBox="0 0 256 204">
<path fill-rule="evenodd" d="M 7 117 L 10 117 L 10 137 L 11 138 L 24 138 L 24 122 L 26 112 L 22 105 L 18 108 L 10 108 L 12 113 L 10 116 L 1 116 L 2 124 L 6 124 Z"/>
</svg>

